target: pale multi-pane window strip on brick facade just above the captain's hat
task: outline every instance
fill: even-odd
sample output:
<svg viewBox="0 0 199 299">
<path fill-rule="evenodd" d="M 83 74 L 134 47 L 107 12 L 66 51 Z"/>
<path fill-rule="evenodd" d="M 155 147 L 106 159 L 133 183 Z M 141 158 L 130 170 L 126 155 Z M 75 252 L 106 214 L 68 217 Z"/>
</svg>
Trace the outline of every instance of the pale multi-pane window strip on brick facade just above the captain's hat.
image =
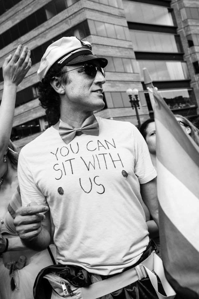
<svg viewBox="0 0 199 299">
<path fill-rule="evenodd" d="M 127 27 L 104 23 L 100 21 L 87 20 L 90 34 L 117 38 L 121 40 L 130 40 Z"/>
</svg>

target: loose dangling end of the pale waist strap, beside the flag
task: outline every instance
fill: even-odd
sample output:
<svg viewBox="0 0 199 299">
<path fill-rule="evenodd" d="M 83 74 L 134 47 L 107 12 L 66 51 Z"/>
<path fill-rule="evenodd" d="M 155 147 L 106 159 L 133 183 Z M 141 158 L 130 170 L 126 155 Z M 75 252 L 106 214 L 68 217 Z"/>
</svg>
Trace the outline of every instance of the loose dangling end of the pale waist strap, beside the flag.
<svg viewBox="0 0 199 299">
<path fill-rule="evenodd" d="M 152 273 L 148 268 L 145 267 L 145 270 L 146 270 L 147 274 L 149 275 L 150 282 L 152 283 L 159 299 L 165 299 L 165 298 L 173 299 L 176 296 L 176 293 L 175 293 L 174 289 L 170 286 L 169 282 L 167 281 L 167 279 L 164 275 L 162 260 L 159 258 L 159 256 L 157 254 L 155 254 L 154 251 L 153 251 L 153 257 L 154 257 L 154 271 L 160 278 L 160 281 L 162 283 L 162 286 L 164 288 L 166 296 L 164 296 L 158 292 L 157 277 L 155 276 L 154 273 Z"/>
</svg>

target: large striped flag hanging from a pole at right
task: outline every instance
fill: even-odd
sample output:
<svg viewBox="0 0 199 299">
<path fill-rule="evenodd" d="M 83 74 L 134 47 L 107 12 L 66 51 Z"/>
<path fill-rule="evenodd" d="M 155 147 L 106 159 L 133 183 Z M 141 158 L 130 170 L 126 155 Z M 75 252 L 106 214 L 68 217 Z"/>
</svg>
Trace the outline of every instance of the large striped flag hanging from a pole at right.
<svg viewBox="0 0 199 299">
<path fill-rule="evenodd" d="M 160 244 L 180 299 L 199 299 L 199 147 L 153 88 Z"/>
</svg>

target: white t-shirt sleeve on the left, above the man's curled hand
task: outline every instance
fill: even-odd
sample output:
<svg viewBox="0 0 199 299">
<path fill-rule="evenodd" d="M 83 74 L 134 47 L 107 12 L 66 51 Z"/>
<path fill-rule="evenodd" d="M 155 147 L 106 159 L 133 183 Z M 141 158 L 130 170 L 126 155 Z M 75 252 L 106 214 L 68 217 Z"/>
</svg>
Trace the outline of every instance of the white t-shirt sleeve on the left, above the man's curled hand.
<svg viewBox="0 0 199 299">
<path fill-rule="evenodd" d="M 35 184 L 28 161 L 22 151 L 18 160 L 18 180 L 22 206 L 27 206 L 27 204 L 33 201 L 38 205 L 48 205 L 46 197 Z"/>
</svg>

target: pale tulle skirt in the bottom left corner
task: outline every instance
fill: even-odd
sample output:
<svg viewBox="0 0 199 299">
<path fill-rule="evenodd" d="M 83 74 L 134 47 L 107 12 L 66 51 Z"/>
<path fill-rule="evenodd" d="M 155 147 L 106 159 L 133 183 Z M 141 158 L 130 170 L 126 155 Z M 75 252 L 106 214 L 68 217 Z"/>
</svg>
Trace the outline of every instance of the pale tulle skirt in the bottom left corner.
<svg viewBox="0 0 199 299">
<path fill-rule="evenodd" d="M 50 249 L 53 256 L 56 257 L 55 245 L 51 244 Z M 23 254 L 30 256 L 29 262 L 24 268 L 13 271 L 16 286 L 19 288 L 13 291 L 10 270 L 4 265 L 5 261 L 0 258 L 0 299 L 34 299 L 33 285 L 37 274 L 41 269 L 53 264 L 48 249 L 34 252 L 34 254 L 32 250 L 26 250 L 23 251 Z"/>
</svg>

